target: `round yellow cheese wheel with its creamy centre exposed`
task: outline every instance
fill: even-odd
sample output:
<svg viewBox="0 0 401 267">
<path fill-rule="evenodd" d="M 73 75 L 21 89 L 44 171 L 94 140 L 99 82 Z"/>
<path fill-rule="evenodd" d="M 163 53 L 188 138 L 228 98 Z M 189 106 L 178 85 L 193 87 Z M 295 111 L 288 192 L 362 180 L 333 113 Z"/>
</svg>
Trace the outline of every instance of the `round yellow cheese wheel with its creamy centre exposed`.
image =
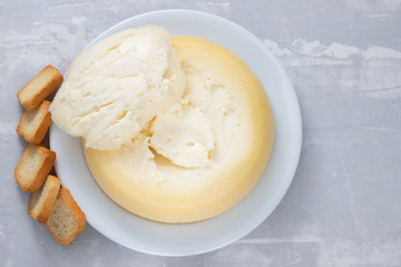
<svg viewBox="0 0 401 267">
<path fill-rule="evenodd" d="M 186 75 L 179 107 L 118 150 L 84 151 L 116 204 L 183 224 L 221 215 L 250 194 L 267 165 L 274 125 L 261 82 L 237 56 L 195 37 L 172 40 Z"/>
</svg>

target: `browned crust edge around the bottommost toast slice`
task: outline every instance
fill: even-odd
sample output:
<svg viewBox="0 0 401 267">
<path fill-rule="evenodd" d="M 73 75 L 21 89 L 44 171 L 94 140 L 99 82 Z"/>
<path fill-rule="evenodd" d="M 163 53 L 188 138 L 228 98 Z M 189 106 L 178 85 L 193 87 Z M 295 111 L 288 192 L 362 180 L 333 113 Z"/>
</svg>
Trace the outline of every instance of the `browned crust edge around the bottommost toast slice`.
<svg viewBox="0 0 401 267">
<path fill-rule="evenodd" d="M 85 216 L 84 211 L 80 209 L 80 207 L 78 206 L 78 204 L 76 202 L 76 200 L 72 198 L 70 191 L 66 187 L 60 188 L 56 201 L 58 201 L 58 200 L 65 201 L 68 205 L 76 222 L 78 224 L 78 227 L 75 228 L 74 231 L 70 233 L 68 238 L 62 240 L 62 239 L 58 238 L 57 233 L 52 229 L 51 225 L 49 225 L 49 220 L 46 222 L 46 226 L 47 226 L 48 230 L 50 231 L 50 234 L 55 237 L 55 240 L 58 244 L 63 245 L 63 246 L 69 246 L 74 243 L 76 237 L 85 230 L 86 216 Z M 51 216 L 51 214 L 50 214 L 50 216 Z"/>
</svg>

